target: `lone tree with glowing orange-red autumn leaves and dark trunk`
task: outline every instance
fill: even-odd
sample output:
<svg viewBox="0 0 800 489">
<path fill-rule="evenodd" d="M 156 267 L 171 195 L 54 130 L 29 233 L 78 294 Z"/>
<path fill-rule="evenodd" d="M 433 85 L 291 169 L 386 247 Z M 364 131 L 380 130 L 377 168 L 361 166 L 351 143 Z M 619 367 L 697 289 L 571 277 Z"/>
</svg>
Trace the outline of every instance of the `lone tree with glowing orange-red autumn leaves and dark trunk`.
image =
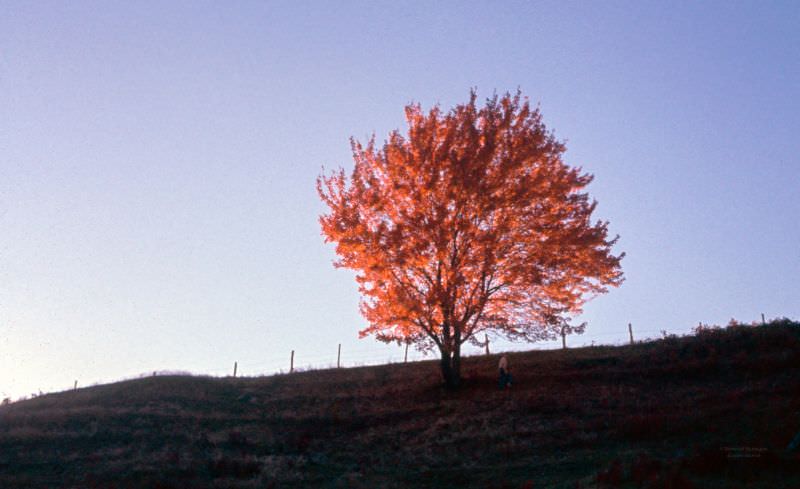
<svg viewBox="0 0 800 489">
<path fill-rule="evenodd" d="M 407 135 L 351 139 L 349 178 L 323 170 L 320 225 L 335 266 L 356 271 L 359 335 L 438 349 L 456 387 L 465 342 L 555 338 L 566 314 L 622 282 L 624 253 L 612 254 L 607 221 L 590 220 L 592 175 L 562 161 L 519 92 L 405 112 Z"/>
</svg>

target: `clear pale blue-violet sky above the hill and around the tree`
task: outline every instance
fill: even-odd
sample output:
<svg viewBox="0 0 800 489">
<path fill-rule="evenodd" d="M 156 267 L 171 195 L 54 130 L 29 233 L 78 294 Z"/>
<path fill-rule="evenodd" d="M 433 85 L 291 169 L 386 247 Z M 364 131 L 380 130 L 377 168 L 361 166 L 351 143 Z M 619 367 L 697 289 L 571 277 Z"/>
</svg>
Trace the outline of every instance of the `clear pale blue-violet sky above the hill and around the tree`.
<svg viewBox="0 0 800 489">
<path fill-rule="evenodd" d="M 0 1 L 0 395 L 400 358 L 314 180 L 470 87 L 540 104 L 621 235 L 572 343 L 800 317 L 798 2 Z"/>
</svg>

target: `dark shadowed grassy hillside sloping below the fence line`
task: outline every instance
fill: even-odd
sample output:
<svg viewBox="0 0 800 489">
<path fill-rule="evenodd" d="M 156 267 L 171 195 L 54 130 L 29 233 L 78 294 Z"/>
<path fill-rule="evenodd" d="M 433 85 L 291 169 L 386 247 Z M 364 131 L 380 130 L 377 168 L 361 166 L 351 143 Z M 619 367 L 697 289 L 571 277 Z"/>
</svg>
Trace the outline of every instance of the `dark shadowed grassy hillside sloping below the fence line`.
<svg viewBox="0 0 800 489">
<path fill-rule="evenodd" d="M 622 347 L 218 379 L 0 408 L 0 487 L 800 488 L 800 324 Z"/>
</svg>

